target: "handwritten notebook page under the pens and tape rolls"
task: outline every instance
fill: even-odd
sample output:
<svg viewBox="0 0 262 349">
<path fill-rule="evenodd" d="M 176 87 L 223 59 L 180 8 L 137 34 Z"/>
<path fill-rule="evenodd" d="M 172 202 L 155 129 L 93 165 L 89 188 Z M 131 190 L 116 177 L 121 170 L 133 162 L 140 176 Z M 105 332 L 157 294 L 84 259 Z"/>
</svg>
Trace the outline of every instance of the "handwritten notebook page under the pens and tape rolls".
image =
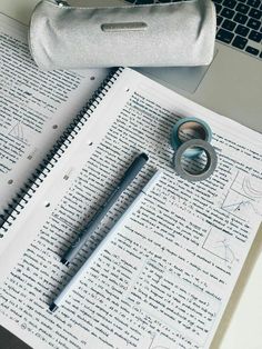
<svg viewBox="0 0 262 349">
<path fill-rule="evenodd" d="M 209 123 L 219 158 L 202 182 L 181 179 L 172 167 L 170 132 L 189 116 Z M 7 223 L 0 323 L 40 349 L 212 348 L 261 222 L 261 140 L 124 69 L 22 213 L 9 229 Z M 81 227 L 140 152 L 149 156 L 145 167 L 74 262 L 61 265 Z M 163 174 L 150 195 L 64 305 L 50 313 L 59 290 L 158 169 Z"/>
</svg>

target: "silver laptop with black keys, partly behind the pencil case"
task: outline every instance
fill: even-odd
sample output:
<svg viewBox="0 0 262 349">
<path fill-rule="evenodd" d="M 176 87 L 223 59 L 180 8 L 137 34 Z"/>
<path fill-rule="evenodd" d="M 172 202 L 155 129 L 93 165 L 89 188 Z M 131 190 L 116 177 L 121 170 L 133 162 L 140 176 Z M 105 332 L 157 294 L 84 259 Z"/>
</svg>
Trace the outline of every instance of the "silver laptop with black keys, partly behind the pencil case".
<svg viewBox="0 0 262 349">
<path fill-rule="evenodd" d="M 95 6 L 178 0 L 97 0 Z M 90 2 L 90 0 L 88 1 Z M 262 1 L 213 0 L 216 41 L 208 67 L 138 68 L 187 98 L 262 132 Z"/>
</svg>

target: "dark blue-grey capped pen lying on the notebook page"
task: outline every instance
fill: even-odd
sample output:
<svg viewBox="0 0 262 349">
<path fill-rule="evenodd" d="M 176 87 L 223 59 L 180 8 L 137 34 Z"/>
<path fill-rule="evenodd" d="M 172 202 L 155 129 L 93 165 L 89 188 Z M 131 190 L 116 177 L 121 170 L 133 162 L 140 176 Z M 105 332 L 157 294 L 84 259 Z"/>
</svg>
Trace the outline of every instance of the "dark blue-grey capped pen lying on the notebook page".
<svg viewBox="0 0 262 349">
<path fill-rule="evenodd" d="M 120 180 L 120 182 L 118 183 L 118 186 L 113 190 L 113 192 L 110 195 L 108 200 L 101 206 L 101 208 L 92 217 L 92 219 L 89 221 L 89 223 L 80 231 L 78 238 L 73 241 L 71 247 L 63 255 L 63 257 L 61 258 L 61 262 L 63 265 L 68 266 L 72 261 L 72 259 L 75 257 L 75 255 L 79 252 L 79 250 L 83 247 L 83 245 L 87 242 L 87 240 L 93 233 L 93 231 L 95 230 L 98 225 L 101 222 L 101 220 L 108 213 L 110 208 L 118 200 L 120 195 L 124 191 L 124 189 L 131 183 L 131 181 L 140 172 L 140 170 L 144 166 L 144 163 L 148 161 L 148 159 L 149 159 L 148 156 L 142 152 L 140 156 L 138 156 L 133 160 L 133 162 L 128 168 L 128 170 L 124 172 L 122 179 Z"/>
</svg>

